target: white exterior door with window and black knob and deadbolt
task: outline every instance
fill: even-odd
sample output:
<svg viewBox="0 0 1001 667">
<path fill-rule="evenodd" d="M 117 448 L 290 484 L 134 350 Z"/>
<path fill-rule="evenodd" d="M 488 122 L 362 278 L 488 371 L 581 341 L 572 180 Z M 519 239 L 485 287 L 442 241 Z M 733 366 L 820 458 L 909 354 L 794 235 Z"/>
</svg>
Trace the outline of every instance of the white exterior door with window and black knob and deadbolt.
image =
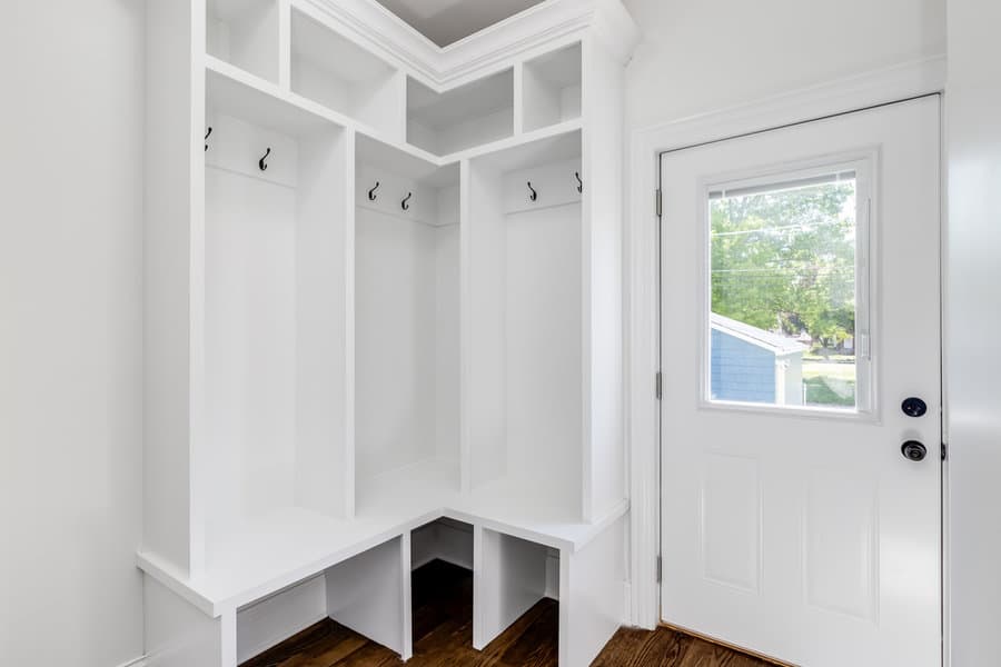
<svg viewBox="0 0 1001 667">
<path fill-rule="evenodd" d="M 939 158 L 938 97 L 663 156 L 664 623 L 941 665 Z"/>
</svg>

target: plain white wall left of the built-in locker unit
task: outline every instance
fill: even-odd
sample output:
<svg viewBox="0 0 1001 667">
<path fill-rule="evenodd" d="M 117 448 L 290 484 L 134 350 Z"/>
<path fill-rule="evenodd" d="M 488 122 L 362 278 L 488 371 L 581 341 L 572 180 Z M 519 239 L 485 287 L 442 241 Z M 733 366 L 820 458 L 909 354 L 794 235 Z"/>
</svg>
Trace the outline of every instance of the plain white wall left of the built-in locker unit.
<svg viewBox="0 0 1001 667">
<path fill-rule="evenodd" d="M 0 20 L 0 661 L 142 653 L 143 3 Z"/>
</svg>

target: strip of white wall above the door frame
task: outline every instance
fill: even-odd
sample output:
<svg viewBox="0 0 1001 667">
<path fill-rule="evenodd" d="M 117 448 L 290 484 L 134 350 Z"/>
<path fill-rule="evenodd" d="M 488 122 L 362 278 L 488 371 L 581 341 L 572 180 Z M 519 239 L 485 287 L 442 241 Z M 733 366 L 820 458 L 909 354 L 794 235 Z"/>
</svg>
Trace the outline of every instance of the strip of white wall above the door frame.
<svg viewBox="0 0 1001 667">
<path fill-rule="evenodd" d="M 945 0 L 624 0 L 643 31 L 628 127 L 945 51 Z"/>
</svg>

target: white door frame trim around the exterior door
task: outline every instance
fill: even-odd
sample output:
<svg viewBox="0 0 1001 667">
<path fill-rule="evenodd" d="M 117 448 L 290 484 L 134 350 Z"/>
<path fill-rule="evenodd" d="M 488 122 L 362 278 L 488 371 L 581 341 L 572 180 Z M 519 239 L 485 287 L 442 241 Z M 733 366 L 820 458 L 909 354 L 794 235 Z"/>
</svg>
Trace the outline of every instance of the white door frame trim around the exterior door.
<svg viewBox="0 0 1001 667">
<path fill-rule="evenodd" d="M 660 172 L 664 152 L 769 131 L 865 108 L 945 92 L 945 58 L 875 70 L 757 102 L 656 125 L 632 133 L 626 198 L 626 442 L 630 452 L 630 570 L 626 621 L 660 623 L 661 586 L 661 370 Z M 941 121 L 940 116 L 940 121 Z M 942 153 L 944 157 L 944 153 Z M 944 168 L 940 167 L 944 181 Z M 945 223 L 942 183 L 940 233 Z M 944 255 L 940 257 L 944 258 Z M 944 259 L 941 260 L 944 262 Z M 944 277 L 944 266 L 942 267 Z M 944 279 L 944 278 L 943 278 Z M 948 424 L 943 396 L 942 424 Z M 943 666 L 949 665 L 948 498 L 949 464 L 942 467 Z"/>
</svg>

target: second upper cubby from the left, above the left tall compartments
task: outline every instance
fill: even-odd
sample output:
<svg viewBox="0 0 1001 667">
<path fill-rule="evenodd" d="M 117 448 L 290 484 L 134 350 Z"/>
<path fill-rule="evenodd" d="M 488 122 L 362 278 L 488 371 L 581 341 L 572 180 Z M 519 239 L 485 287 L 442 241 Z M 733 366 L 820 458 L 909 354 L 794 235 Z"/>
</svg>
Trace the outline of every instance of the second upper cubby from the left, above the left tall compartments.
<svg viewBox="0 0 1001 667">
<path fill-rule="evenodd" d="M 293 92 L 402 140 L 403 77 L 317 19 L 293 9 Z"/>
</svg>

